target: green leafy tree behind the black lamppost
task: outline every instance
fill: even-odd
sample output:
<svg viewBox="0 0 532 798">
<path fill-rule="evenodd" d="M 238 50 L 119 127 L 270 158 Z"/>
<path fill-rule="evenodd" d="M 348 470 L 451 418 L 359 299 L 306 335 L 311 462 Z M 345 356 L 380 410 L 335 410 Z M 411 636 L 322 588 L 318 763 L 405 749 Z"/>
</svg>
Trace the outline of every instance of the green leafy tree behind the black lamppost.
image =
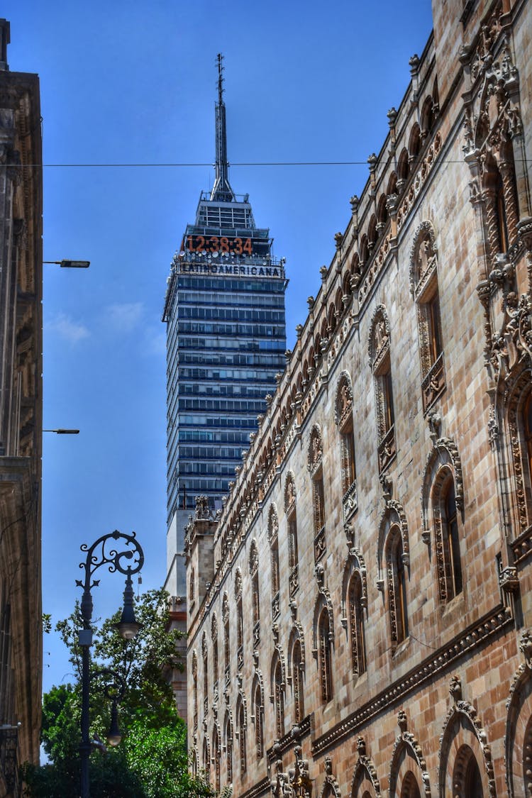
<svg viewBox="0 0 532 798">
<path fill-rule="evenodd" d="M 114 624 L 119 613 L 93 625 L 91 647 L 91 737 L 104 741 L 110 702 L 104 695 L 103 668 L 124 679 L 119 725 L 122 742 L 91 753 L 93 798 L 185 798 L 214 796 L 202 777 L 187 770 L 187 729 L 175 709 L 165 676 L 180 663 L 175 654 L 179 632 L 168 632 L 167 593 L 148 591 L 136 599 L 135 614 L 142 624 L 134 641 L 126 642 Z M 49 763 L 26 766 L 26 795 L 31 798 L 77 798 L 80 790 L 79 741 L 81 722 L 81 648 L 79 606 L 56 629 L 70 650 L 78 681 L 53 687 L 43 697 L 42 745 Z"/>
</svg>

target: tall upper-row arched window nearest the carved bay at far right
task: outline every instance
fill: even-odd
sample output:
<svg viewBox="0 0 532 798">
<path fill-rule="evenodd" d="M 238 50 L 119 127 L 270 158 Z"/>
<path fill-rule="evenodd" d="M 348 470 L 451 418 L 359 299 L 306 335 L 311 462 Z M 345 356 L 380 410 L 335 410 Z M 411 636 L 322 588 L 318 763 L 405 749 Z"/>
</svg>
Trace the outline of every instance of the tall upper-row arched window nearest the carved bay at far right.
<svg viewBox="0 0 532 798">
<path fill-rule="evenodd" d="M 431 223 L 423 222 L 412 247 L 410 283 L 417 310 L 424 413 L 445 389 L 437 265 L 434 230 Z"/>
</svg>

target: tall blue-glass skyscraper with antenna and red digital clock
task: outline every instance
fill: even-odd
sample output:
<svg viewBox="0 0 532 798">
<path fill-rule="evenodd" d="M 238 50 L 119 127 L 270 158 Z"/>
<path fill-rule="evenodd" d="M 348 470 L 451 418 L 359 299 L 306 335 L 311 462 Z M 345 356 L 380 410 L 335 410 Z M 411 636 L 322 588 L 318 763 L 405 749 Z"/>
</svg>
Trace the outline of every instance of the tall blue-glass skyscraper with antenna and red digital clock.
<svg viewBox="0 0 532 798">
<path fill-rule="evenodd" d="M 216 163 L 167 279 L 167 590 L 186 595 L 183 528 L 195 496 L 212 510 L 242 464 L 257 416 L 285 368 L 284 262 L 249 196 L 228 178 L 223 58 L 218 56 Z"/>
</svg>

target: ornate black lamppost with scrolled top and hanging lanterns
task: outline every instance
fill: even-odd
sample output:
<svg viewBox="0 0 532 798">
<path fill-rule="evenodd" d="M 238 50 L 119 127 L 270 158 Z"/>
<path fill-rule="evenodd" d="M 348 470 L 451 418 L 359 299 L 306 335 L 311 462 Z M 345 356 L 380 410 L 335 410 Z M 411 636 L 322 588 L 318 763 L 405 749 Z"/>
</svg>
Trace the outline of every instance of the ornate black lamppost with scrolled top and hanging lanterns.
<svg viewBox="0 0 532 798">
<path fill-rule="evenodd" d="M 124 541 L 124 551 L 117 551 L 115 541 Z M 81 546 L 81 551 L 87 552 L 85 563 L 80 563 L 80 568 L 85 568 L 85 581 L 76 579 L 78 587 L 83 588 L 83 598 L 81 599 L 81 617 L 83 618 L 83 629 L 78 633 L 78 640 L 81 646 L 81 798 L 90 798 L 89 793 L 89 664 L 90 646 L 93 643 L 93 630 L 91 620 L 93 618 L 93 596 L 91 589 L 100 584 L 99 579 L 93 579 L 94 571 L 102 565 L 107 565 L 109 571 L 120 571 L 126 575 L 124 590 L 124 610 L 120 623 L 116 624 L 117 630 L 125 640 L 132 640 L 140 624 L 136 622 L 133 609 L 133 583 L 132 575 L 138 573 L 144 564 L 144 551 L 136 540 L 135 532 L 131 535 L 124 535 L 123 532 L 115 530 L 98 538 L 96 543 L 89 548 L 86 543 Z M 126 562 L 130 561 L 129 565 Z M 131 562 L 132 561 L 132 562 Z M 115 674 L 112 674 L 113 676 Z M 123 690 L 122 690 L 123 692 Z M 110 696 L 113 700 L 112 695 Z M 116 715 L 116 701 L 113 700 L 111 725 L 112 737 L 115 740 L 118 733 L 118 723 Z M 111 741 L 112 744 L 112 741 Z"/>
</svg>

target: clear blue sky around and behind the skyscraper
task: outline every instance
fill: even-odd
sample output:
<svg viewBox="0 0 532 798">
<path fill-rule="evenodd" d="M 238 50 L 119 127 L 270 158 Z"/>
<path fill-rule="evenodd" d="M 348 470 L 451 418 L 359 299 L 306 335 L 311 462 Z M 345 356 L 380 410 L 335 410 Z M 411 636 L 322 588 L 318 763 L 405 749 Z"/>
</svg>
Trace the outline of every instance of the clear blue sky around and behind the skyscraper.
<svg viewBox="0 0 532 798">
<path fill-rule="evenodd" d="M 287 338 L 317 294 L 349 197 L 388 132 L 432 30 L 428 0 L 4 0 L 11 71 L 41 77 L 45 266 L 43 610 L 81 597 L 81 543 L 118 528 L 144 547 L 144 588 L 166 576 L 165 334 L 171 257 L 211 188 L 216 53 L 225 56 L 233 164 L 255 222 L 286 257 Z M 69 165 L 63 165 L 69 164 Z M 150 165 L 124 165 L 150 164 Z M 94 614 L 120 605 L 100 569 Z M 68 681 L 67 654 L 44 642 L 44 688 Z"/>
</svg>

